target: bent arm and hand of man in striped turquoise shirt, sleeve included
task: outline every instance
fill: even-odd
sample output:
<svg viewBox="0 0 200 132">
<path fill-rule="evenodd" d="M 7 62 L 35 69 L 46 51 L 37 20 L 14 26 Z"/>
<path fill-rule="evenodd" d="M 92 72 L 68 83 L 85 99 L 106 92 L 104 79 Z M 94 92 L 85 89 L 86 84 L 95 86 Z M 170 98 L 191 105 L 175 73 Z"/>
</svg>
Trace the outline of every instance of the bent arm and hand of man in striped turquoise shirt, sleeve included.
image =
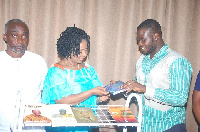
<svg viewBox="0 0 200 132">
<path fill-rule="evenodd" d="M 169 89 L 145 86 L 136 81 L 127 81 L 123 89 L 127 92 L 144 93 L 145 96 L 156 102 L 172 106 L 184 106 L 187 102 L 192 77 L 192 67 L 185 58 L 178 58 L 169 68 Z"/>
</svg>

